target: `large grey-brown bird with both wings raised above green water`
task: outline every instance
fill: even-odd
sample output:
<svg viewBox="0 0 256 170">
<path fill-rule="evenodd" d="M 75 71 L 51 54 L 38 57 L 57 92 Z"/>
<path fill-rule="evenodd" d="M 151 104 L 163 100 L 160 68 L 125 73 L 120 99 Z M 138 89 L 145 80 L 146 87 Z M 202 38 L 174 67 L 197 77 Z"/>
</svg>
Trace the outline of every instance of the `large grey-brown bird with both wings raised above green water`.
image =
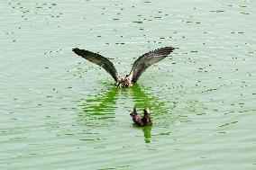
<svg viewBox="0 0 256 170">
<path fill-rule="evenodd" d="M 152 50 L 148 53 L 143 54 L 140 58 L 134 61 L 133 67 L 130 71 L 129 75 L 122 76 L 119 74 L 114 67 L 114 64 L 108 59 L 100 54 L 95 52 L 91 52 L 86 49 L 72 49 L 78 56 L 82 58 L 86 58 L 88 61 L 95 63 L 96 65 L 103 67 L 107 73 L 109 73 L 116 82 L 118 87 L 131 87 L 133 83 L 136 83 L 142 73 L 151 65 L 159 62 L 163 58 L 169 56 L 169 54 L 173 51 L 173 47 L 164 47 L 160 49 Z"/>
</svg>

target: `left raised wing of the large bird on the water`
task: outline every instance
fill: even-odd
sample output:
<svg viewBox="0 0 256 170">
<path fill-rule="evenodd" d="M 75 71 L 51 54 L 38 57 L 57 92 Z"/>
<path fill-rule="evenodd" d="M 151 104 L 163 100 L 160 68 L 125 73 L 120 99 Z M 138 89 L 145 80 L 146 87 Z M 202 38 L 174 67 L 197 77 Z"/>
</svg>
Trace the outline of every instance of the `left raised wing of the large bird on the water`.
<svg viewBox="0 0 256 170">
<path fill-rule="evenodd" d="M 117 70 L 115 69 L 113 63 L 108 60 L 107 58 L 96 54 L 94 52 L 85 50 L 85 49 L 72 49 L 78 56 L 81 56 L 82 58 L 86 58 L 88 61 L 95 63 L 96 65 L 103 67 L 107 73 L 109 73 L 114 80 L 117 82 Z"/>
</svg>

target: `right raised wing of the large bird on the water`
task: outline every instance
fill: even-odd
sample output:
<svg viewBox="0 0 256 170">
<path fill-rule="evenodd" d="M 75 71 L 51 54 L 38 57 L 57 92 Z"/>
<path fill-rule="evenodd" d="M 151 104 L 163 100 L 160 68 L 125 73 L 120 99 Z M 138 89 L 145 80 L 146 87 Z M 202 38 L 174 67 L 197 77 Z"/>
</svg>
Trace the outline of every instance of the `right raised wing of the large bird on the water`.
<svg viewBox="0 0 256 170">
<path fill-rule="evenodd" d="M 155 49 L 150 51 L 142 57 L 138 58 L 132 67 L 129 77 L 132 77 L 133 83 L 136 83 L 142 73 L 151 65 L 159 62 L 161 59 L 166 58 L 170 52 L 175 48 L 172 47 L 165 47 L 160 49 Z"/>
</svg>

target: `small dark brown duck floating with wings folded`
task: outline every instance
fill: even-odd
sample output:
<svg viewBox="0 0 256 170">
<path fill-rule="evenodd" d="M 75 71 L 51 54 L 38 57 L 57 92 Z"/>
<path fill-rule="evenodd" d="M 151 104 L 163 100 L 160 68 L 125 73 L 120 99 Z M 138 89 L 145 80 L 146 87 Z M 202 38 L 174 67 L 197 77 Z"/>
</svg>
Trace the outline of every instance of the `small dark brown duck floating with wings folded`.
<svg viewBox="0 0 256 170">
<path fill-rule="evenodd" d="M 133 108 L 133 112 L 130 113 L 130 115 L 132 116 L 133 118 L 133 122 L 139 126 L 151 126 L 153 124 L 152 120 L 151 120 L 151 116 L 150 116 L 150 109 L 149 108 L 145 108 L 143 110 L 144 112 L 144 115 L 139 115 L 137 110 L 136 110 L 136 107 Z"/>
</svg>

